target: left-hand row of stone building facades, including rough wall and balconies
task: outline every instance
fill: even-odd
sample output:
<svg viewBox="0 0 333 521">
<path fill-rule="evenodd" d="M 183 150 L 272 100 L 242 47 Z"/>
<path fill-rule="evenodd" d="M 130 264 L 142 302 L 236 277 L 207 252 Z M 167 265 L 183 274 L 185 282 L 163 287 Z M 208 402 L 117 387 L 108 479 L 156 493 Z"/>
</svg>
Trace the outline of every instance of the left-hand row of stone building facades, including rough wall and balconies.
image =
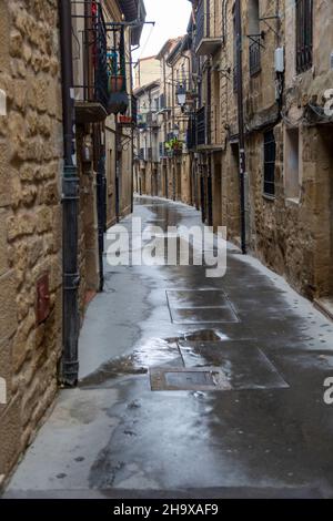
<svg viewBox="0 0 333 521">
<path fill-rule="evenodd" d="M 74 282 L 81 321 L 87 297 L 102 287 L 107 226 L 132 207 L 135 104 L 130 62 L 131 49 L 140 41 L 144 3 L 0 0 L 0 486 L 32 441 L 59 381 L 64 381 L 60 368 L 65 320 L 79 323 L 77 314 L 63 313 L 70 286 L 63 262 L 68 251 L 59 8 L 64 4 L 72 14 L 69 29 L 81 38 L 73 38 L 73 85 L 68 86 L 70 98 L 74 93 L 72 157 L 79 190 L 71 198 L 78 201 Z M 80 4 L 85 11 L 77 11 Z M 142 23 L 130 28 L 138 19 Z M 112 22 L 109 32 L 105 20 Z M 98 37 L 98 44 L 84 40 L 85 29 Z M 117 33 L 114 39 L 110 31 Z M 84 45 L 78 49 L 80 42 L 85 42 L 87 53 Z M 104 69 L 97 70 L 98 63 Z M 120 101 L 114 101 L 118 75 L 123 81 Z M 78 337 L 79 328 L 74 333 Z"/>
</svg>

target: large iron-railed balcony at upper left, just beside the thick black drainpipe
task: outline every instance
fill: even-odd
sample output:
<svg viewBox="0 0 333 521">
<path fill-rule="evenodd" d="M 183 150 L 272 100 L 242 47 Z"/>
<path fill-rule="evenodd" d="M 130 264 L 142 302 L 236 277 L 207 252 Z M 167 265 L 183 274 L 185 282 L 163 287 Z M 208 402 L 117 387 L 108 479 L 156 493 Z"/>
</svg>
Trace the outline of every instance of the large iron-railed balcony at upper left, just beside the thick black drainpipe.
<svg viewBox="0 0 333 521">
<path fill-rule="evenodd" d="M 125 115 L 124 29 L 117 23 L 107 28 L 100 1 L 72 1 L 71 7 L 77 122 Z"/>
</svg>

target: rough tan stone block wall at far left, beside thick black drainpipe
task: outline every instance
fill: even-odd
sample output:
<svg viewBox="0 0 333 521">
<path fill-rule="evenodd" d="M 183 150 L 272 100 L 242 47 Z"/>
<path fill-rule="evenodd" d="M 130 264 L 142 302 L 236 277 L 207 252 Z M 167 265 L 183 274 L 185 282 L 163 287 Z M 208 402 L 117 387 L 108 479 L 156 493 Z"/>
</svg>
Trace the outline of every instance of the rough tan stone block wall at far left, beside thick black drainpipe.
<svg viewBox="0 0 333 521">
<path fill-rule="evenodd" d="M 62 105 L 58 2 L 0 0 L 0 480 L 57 392 L 61 354 Z M 37 283 L 50 309 L 37 323 Z"/>
</svg>

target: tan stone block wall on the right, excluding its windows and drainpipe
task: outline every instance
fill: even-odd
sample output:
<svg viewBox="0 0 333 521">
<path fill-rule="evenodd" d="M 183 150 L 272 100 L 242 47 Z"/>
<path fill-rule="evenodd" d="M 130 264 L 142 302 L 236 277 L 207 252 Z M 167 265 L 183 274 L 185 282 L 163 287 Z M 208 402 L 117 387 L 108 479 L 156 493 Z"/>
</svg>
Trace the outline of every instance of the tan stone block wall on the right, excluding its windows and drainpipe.
<svg viewBox="0 0 333 521">
<path fill-rule="evenodd" d="M 222 12 L 222 1 L 210 1 L 211 12 Z M 260 17 L 272 17 L 259 24 L 264 31 L 261 40 L 261 71 L 250 74 L 250 43 L 252 2 L 242 2 L 243 25 L 243 91 L 246 133 L 246 170 L 249 175 L 249 246 L 265 265 L 285 276 L 310 298 L 333 294 L 332 201 L 333 153 L 332 127 L 311 125 L 302 121 L 309 102 L 323 105 L 324 92 L 332 88 L 333 3 L 314 0 L 313 68 L 296 74 L 295 70 L 295 2 L 279 2 L 281 22 L 274 18 L 278 2 L 261 0 Z M 220 22 L 218 22 L 220 23 Z M 211 30 L 216 20 L 211 21 Z M 240 188 L 238 166 L 238 95 L 233 88 L 234 27 L 233 2 L 228 2 L 225 40 L 213 57 L 201 59 L 210 64 L 212 106 L 220 106 L 220 123 L 211 118 L 212 130 L 220 126 L 221 152 L 214 161 L 221 164 L 221 183 L 214 186 L 214 211 L 221 219 L 214 224 L 228 226 L 228 236 L 240 242 Z M 222 31 L 223 32 L 223 31 Z M 285 45 L 285 82 L 282 111 L 275 100 L 274 52 Z M 229 70 L 231 71 L 229 73 Z M 220 71 L 220 96 L 216 71 Z M 203 102 L 206 100 L 208 68 L 203 69 Z M 220 99 L 219 99 L 220 98 Z M 281 115 L 282 112 L 282 115 Z M 290 154 L 286 132 L 300 132 L 300 196 L 287 193 Z M 276 141 L 275 197 L 263 194 L 263 133 L 274 129 Z M 215 133 L 216 134 L 216 133 Z M 213 144 L 216 144 L 213 133 Z M 212 160 L 213 161 L 213 160 Z M 221 186 L 221 188 L 220 188 Z M 216 208 L 221 204 L 221 212 Z"/>
</svg>

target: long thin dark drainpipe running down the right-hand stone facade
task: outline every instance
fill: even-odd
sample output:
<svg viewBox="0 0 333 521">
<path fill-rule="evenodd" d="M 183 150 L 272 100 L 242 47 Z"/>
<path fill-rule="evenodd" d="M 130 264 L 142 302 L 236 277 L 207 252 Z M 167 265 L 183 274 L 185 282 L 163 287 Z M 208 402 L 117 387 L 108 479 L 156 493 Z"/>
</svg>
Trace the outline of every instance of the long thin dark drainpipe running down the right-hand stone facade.
<svg viewBox="0 0 333 521">
<path fill-rule="evenodd" d="M 244 135 L 244 104 L 243 104 L 243 42 L 242 42 L 242 1 L 235 0 L 236 24 L 236 68 L 238 68 L 238 112 L 239 112 L 239 142 L 240 142 L 240 204 L 241 204 L 241 247 L 246 254 L 246 219 L 245 219 L 245 172 L 246 153 Z"/>
</svg>

